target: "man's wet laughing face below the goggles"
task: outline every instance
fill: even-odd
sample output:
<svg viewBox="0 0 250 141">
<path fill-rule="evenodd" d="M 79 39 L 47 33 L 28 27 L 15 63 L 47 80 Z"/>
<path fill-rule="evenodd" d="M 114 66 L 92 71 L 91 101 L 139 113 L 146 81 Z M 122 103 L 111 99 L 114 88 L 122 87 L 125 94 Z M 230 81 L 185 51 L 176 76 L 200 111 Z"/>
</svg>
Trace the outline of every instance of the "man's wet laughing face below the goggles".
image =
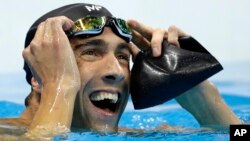
<svg viewBox="0 0 250 141">
<path fill-rule="evenodd" d="M 128 43 L 108 27 L 99 36 L 71 39 L 82 86 L 72 127 L 117 131 L 129 96 Z"/>
</svg>

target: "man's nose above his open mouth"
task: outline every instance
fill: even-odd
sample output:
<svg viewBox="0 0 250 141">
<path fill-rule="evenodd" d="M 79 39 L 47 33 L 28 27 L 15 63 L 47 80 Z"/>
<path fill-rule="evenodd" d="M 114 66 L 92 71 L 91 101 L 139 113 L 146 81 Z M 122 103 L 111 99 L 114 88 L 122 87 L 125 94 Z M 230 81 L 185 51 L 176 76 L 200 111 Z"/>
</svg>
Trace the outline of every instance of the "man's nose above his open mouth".
<svg viewBox="0 0 250 141">
<path fill-rule="evenodd" d="M 110 84 L 116 84 L 124 80 L 125 72 L 115 56 L 109 57 L 104 66 L 103 81 Z"/>
</svg>

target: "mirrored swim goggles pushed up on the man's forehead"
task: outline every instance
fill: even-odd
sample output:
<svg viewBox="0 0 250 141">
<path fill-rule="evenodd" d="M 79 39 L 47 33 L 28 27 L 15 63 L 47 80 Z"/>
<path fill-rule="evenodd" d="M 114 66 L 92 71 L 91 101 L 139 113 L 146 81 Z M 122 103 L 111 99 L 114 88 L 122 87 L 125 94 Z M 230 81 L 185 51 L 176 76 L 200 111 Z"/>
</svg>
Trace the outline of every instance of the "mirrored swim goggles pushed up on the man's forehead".
<svg viewBox="0 0 250 141">
<path fill-rule="evenodd" d="M 132 32 L 127 22 L 115 17 L 94 17 L 88 16 L 75 21 L 73 27 L 66 33 L 72 36 L 100 35 L 105 26 L 112 28 L 113 32 L 127 42 L 132 39 Z"/>
</svg>

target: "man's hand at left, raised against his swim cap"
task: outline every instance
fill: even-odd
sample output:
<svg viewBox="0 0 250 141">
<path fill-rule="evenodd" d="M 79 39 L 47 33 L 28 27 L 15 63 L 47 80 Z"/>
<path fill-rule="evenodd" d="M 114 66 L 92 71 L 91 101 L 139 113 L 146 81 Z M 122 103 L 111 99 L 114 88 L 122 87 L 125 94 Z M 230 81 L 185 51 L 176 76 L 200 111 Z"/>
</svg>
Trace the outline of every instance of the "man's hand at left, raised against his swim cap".
<svg viewBox="0 0 250 141">
<path fill-rule="evenodd" d="M 60 83 L 79 88 L 79 70 L 64 32 L 73 24 L 64 16 L 47 19 L 38 26 L 34 39 L 24 49 L 23 57 L 40 86 Z"/>
</svg>

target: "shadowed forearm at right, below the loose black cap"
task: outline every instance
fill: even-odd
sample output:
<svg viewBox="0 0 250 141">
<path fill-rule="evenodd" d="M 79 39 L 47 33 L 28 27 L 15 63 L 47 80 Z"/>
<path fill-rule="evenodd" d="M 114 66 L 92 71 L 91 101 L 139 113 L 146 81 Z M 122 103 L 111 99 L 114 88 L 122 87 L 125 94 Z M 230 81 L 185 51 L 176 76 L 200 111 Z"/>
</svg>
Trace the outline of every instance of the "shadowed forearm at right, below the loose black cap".
<svg viewBox="0 0 250 141">
<path fill-rule="evenodd" d="M 204 81 L 176 98 L 178 103 L 197 119 L 201 126 L 225 127 L 240 120 L 220 97 L 217 88 Z"/>
</svg>

